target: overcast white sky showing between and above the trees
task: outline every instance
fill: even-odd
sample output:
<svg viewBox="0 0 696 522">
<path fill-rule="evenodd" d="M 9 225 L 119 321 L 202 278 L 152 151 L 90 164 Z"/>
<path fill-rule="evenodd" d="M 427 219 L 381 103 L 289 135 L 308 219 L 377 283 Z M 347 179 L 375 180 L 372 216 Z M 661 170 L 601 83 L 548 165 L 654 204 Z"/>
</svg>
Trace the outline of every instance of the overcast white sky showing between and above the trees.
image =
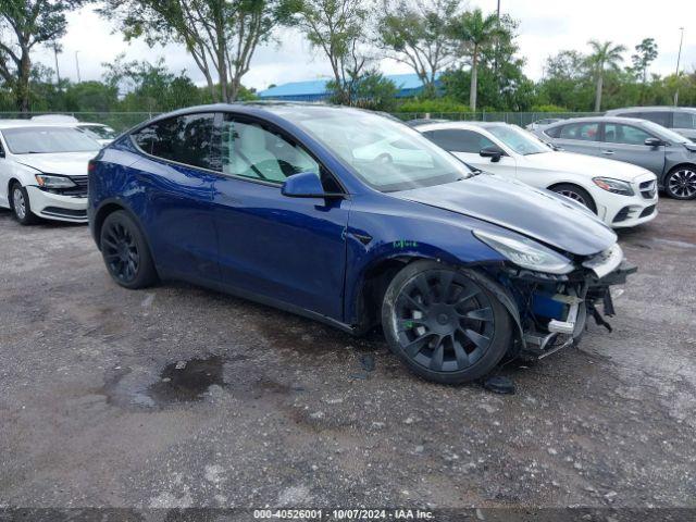
<svg viewBox="0 0 696 522">
<path fill-rule="evenodd" d="M 469 5 L 490 12 L 496 9 L 496 0 L 476 0 Z M 518 41 L 526 59 L 525 72 L 534 79 L 543 75 L 548 55 L 561 49 L 586 51 L 591 38 L 623 44 L 632 51 L 643 38 L 652 37 L 658 44 L 659 57 L 651 71 L 662 75 L 673 73 L 681 26 L 684 26 L 682 69 L 696 67 L 695 0 L 501 0 L 501 11 L 520 21 Z M 156 61 L 163 57 L 170 70 L 186 71 L 196 83 L 203 83 L 194 61 L 182 48 L 150 49 L 142 41 L 126 44 L 119 34 L 112 33 L 112 24 L 97 16 L 91 8 L 72 13 L 67 34 L 62 39 L 63 53 L 58 59 L 61 76 L 77 79 L 76 52 L 83 80 L 100 79 L 101 64 L 125 52 L 127 60 Z M 257 50 L 251 71 L 244 78 L 245 85 L 262 90 L 270 84 L 331 74 L 326 61 L 312 51 L 301 36 L 284 30 L 278 39 L 278 44 Z M 630 60 L 630 55 L 631 52 L 626 52 L 625 59 Z M 40 49 L 35 60 L 55 69 L 53 54 L 46 49 Z M 388 61 L 381 66 L 387 74 L 411 72 L 402 64 Z"/>
</svg>

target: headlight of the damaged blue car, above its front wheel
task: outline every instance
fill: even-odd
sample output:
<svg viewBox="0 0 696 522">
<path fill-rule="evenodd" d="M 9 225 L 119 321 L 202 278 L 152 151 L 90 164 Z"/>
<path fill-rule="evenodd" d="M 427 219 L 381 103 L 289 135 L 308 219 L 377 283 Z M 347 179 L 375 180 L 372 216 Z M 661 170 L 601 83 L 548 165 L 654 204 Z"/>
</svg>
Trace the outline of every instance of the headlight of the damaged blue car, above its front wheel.
<svg viewBox="0 0 696 522">
<path fill-rule="evenodd" d="M 574 270 L 569 259 L 524 236 L 508 236 L 483 231 L 474 231 L 473 234 L 523 269 L 547 274 L 568 274 Z"/>
</svg>

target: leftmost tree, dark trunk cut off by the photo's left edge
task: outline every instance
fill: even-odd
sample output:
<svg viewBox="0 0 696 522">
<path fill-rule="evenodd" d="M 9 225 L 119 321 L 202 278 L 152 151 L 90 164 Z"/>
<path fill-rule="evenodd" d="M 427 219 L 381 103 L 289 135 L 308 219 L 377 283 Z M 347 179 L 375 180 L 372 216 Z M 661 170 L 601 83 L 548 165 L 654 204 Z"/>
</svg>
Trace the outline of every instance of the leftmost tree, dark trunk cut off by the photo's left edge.
<svg viewBox="0 0 696 522">
<path fill-rule="evenodd" d="M 32 51 L 65 34 L 65 13 L 84 0 L 0 0 L 0 77 L 21 112 L 30 101 Z"/>
</svg>

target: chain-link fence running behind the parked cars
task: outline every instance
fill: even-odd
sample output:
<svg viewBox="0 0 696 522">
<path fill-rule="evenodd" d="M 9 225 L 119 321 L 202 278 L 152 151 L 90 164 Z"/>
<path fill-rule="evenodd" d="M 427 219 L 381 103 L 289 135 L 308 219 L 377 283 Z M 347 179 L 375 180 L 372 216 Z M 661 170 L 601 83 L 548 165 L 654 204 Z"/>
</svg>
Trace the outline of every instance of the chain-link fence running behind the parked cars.
<svg viewBox="0 0 696 522">
<path fill-rule="evenodd" d="M 32 116 L 44 114 L 63 114 L 74 116 L 80 122 L 103 123 L 116 129 L 126 130 L 141 122 L 157 116 L 158 112 L 0 112 L 0 120 L 21 119 L 26 120 Z M 395 112 L 394 116 L 401 121 L 410 120 L 447 120 L 456 122 L 506 122 L 524 127 L 538 120 L 558 117 L 580 117 L 592 116 L 593 112 Z"/>
</svg>

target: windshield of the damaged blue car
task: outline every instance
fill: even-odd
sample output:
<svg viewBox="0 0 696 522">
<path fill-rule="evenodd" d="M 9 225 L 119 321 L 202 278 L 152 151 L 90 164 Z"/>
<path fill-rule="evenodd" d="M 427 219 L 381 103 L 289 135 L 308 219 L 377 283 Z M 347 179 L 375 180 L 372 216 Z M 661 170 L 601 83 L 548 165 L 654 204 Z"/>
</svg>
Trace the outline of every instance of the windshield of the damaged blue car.
<svg viewBox="0 0 696 522">
<path fill-rule="evenodd" d="M 442 185 L 471 176 L 449 152 L 390 119 L 349 109 L 274 108 L 331 149 L 383 192 Z"/>
</svg>

